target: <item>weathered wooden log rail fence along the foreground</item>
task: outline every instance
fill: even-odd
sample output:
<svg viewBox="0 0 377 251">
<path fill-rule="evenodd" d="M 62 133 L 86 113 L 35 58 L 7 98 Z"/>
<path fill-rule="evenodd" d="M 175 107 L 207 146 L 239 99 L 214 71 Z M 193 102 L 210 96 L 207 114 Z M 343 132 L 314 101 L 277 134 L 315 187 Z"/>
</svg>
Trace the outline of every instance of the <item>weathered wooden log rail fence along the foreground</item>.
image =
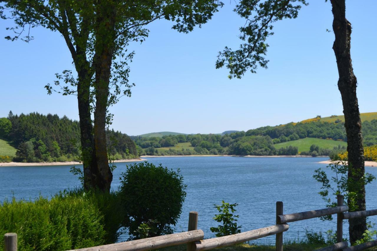
<svg viewBox="0 0 377 251">
<path fill-rule="evenodd" d="M 232 246 L 238 243 L 256 240 L 265 236 L 276 235 L 276 251 L 283 250 L 283 232 L 289 228 L 288 222 L 307 220 L 311 218 L 337 214 L 337 243 L 317 251 L 356 251 L 377 246 L 377 240 L 366 242 L 357 246 L 348 247 L 348 242 L 343 242 L 343 219 L 352 219 L 377 215 L 377 209 L 349 212 L 348 206 L 343 205 L 343 196 L 337 197 L 337 207 L 311 210 L 293 214 L 283 214 L 283 202 L 276 202 L 276 225 L 258 228 L 243 233 L 229 236 L 204 239 L 202 230 L 197 230 L 198 213 L 190 212 L 189 228 L 187 232 L 157 236 L 129 242 L 120 242 L 103 246 L 75 249 L 76 251 L 141 251 L 187 243 L 187 251 L 210 250 L 219 247 Z M 4 236 L 5 251 L 17 251 L 17 234 L 7 233 Z M 72 250 L 71 250 L 72 251 Z"/>
</svg>

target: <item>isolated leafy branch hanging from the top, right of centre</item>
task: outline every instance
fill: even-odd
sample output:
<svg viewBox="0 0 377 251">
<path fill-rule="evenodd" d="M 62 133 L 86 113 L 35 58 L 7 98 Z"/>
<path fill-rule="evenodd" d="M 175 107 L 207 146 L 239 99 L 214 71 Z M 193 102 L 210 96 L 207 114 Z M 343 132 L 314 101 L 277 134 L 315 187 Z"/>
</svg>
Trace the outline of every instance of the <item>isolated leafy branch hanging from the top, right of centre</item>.
<svg viewBox="0 0 377 251">
<path fill-rule="evenodd" d="M 241 0 L 233 10 L 246 23 L 240 27 L 239 49 L 229 47 L 218 54 L 216 69 L 223 66 L 229 69 L 228 78 L 241 78 L 247 70 L 256 73 L 258 66 L 267 68 L 265 58 L 267 38 L 273 35 L 273 23 L 283 18 L 296 18 L 301 5 L 308 5 L 306 0 Z"/>
</svg>

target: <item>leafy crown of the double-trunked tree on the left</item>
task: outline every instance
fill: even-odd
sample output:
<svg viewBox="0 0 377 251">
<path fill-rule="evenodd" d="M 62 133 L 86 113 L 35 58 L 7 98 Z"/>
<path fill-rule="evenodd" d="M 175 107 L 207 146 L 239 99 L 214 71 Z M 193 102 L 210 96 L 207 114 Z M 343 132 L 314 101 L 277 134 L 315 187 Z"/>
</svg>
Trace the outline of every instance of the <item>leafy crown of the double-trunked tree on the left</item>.
<svg viewBox="0 0 377 251">
<path fill-rule="evenodd" d="M 0 3 L 0 17 L 12 19 L 14 32 L 5 38 L 11 41 L 33 40 L 31 28 L 42 26 L 59 32 L 64 38 L 78 75 L 86 74 L 79 83 L 71 70 L 57 73 L 57 80 L 46 85 L 48 93 L 77 95 L 79 84 L 90 85 L 91 110 L 95 109 L 95 66 L 102 59 L 98 57 L 106 46 L 112 49 L 112 63 L 107 108 L 116 104 L 121 96 L 130 96 L 129 66 L 134 52 L 128 52 L 132 41 L 143 42 L 149 30 L 144 26 L 159 19 L 174 22 L 172 28 L 179 32 L 190 32 L 195 26 L 206 23 L 221 7 L 218 0 L 135 0 L 135 1 L 93 1 L 93 0 L 7 0 Z M 102 15 L 106 12 L 110 15 Z M 111 18 L 108 18 L 108 17 Z M 108 18 L 108 20 L 107 20 Z M 109 26 L 110 29 L 109 29 Z M 110 32 L 109 32 L 110 31 Z M 111 115 L 107 122 L 111 121 Z"/>
</svg>

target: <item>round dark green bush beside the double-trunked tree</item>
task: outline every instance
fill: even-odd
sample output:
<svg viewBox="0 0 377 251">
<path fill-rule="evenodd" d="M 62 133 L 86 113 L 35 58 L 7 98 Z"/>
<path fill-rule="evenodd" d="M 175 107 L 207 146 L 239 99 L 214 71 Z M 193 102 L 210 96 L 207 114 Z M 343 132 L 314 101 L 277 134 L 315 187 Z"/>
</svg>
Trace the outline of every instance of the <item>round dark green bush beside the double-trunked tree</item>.
<svg viewBox="0 0 377 251">
<path fill-rule="evenodd" d="M 127 215 L 124 227 L 128 227 L 130 239 L 141 237 L 138 229 L 143 223 L 156 229 L 148 237 L 173 233 L 170 225 L 177 223 L 186 197 L 186 185 L 179 170 L 146 161 L 127 165 L 120 179 L 119 195 Z"/>
</svg>

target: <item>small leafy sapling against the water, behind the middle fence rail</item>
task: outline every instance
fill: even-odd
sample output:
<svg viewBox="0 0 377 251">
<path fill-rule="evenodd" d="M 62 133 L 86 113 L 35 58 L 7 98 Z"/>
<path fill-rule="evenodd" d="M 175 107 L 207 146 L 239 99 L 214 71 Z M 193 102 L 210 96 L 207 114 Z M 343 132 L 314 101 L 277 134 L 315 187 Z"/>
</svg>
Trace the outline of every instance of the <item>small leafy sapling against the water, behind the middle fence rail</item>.
<svg viewBox="0 0 377 251">
<path fill-rule="evenodd" d="M 227 236 L 231 234 L 238 234 L 241 233 L 240 228 L 242 226 L 237 226 L 237 219 L 238 215 L 234 215 L 233 213 L 236 211 L 234 207 L 238 204 L 229 204 L 222 200 L 222 205 L 216 205 L 215 207 L 219 214 L 215 214 L 213 217 L 214 220 L 217 222 L 222 223 L 222 225 L 218 225 L 218 227 L 211 227 L 211 231 L 216 233 L 216 237 Z"/>
</svg>

